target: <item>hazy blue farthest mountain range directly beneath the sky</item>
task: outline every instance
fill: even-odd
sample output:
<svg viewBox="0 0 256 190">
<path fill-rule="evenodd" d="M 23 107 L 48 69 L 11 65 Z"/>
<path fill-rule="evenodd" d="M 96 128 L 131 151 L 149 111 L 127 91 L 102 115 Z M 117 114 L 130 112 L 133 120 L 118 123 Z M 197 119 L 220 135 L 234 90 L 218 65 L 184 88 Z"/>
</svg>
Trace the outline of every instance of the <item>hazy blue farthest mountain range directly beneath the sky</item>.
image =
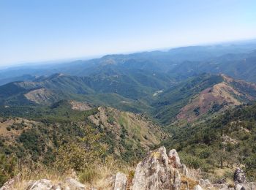
<svg viewBox="0 0 256 190">
<path fill-rule="evenodd" d="M 106 67 L 116 69 L 142 69 L 149 72 L 165 72 L 173 77 L 187 77 L 198 72 L 224 73 L 239 79 L 256 81 L 256 40 L 222 45 L 178 47 L 167 51 L 108 55 L 83 61 L 67 61 L 63 64 L 30 64 L 0 70 L 0 84 L 17 80 L 31 80 L 23 75 L 42 76 L 64 73 L 88 76 Z M 246 66 L 244 64 L 246 63 Z M 250 68 L 250 69 L 248 69 Z M 251 74 L 250 74 L 251 73 Z"/>
</svg>

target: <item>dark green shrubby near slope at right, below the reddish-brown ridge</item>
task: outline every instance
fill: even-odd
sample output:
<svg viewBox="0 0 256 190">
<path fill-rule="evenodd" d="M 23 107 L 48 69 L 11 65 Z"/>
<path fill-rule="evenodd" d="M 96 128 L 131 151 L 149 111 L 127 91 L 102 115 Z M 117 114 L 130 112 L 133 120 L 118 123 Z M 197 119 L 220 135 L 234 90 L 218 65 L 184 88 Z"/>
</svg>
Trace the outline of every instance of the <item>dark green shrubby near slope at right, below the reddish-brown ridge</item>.
<svg viewBox="0 0 256 190">
<path fill-rule="evenodd" d="M 200 164 L 206 172 L 227 172 L 229 168 L 245 166 L 249 179 L 255 180 L 255 110 L 255 102 L 240 104 L 184 126 L 172 123 L 168 129 L 173 135 L 165 145 L 180 151 L 189 167 Z"/>
</svg>

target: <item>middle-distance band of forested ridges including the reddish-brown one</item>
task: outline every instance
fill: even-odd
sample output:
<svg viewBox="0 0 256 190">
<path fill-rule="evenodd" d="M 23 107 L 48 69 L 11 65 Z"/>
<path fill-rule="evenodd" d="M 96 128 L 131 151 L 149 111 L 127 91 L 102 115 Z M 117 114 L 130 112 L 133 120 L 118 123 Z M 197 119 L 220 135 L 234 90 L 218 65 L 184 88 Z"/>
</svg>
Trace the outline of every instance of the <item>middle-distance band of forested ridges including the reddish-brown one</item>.
<svg viewBox="0 0 256 190">
<path fill-rule="evenodd" d="M 112 72 L 110 72 L 112 71 Z M 193 121 L 256 97 L 256 86 L 226 75 L 202 74 L 172 80 L 160 73 L 102 70 L 89 77 L 55 74 L 30 82 L 0 86 L 1 104 L 37 106 L 61 99 L 108 105 L 135 113 L 146 112 L 162 124 Z"/>
</svg>

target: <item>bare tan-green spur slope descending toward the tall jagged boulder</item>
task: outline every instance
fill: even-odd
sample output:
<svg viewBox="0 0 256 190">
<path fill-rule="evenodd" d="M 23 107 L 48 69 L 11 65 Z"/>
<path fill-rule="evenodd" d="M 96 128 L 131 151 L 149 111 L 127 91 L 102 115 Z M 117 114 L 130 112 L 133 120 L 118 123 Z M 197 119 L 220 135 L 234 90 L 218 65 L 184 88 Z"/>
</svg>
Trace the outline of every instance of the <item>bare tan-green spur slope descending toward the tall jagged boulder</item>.
<svg viewBox="0 0 256 190">
<path fill-rule="evenodd" d="M 116 153 L 123 152 L 127 146 L 131 148 L 141 146 L 149 150 L 167 137 L 159 126 L 149 121 L 145 115 L 123 112 L 111 107 L 99 107 L 98 111 L 96 115 L 89 116 L 89 119 L 96 126 L 100 126 L 102 131 L 114 134 L 116 144 L 113 148 Z"/>
</svg>

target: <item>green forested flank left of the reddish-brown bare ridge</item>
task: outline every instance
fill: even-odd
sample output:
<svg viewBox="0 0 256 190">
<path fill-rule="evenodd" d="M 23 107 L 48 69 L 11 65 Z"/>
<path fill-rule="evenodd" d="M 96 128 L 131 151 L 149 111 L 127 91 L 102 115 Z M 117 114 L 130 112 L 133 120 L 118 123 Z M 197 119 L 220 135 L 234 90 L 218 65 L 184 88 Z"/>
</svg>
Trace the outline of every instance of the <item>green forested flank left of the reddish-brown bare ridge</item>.
<svg viewBox="0 0 256 190">
<path fill-rule="evenodd" d="M 152 104 L 155 108 L 154 117 L 161 123 L 170 123 L 176 119 L 181 108 L 189 104 L 193 96 L 221 82 L 220 76 L 203 74 L 177 83 L 157 96 Z"/>
</svg>

